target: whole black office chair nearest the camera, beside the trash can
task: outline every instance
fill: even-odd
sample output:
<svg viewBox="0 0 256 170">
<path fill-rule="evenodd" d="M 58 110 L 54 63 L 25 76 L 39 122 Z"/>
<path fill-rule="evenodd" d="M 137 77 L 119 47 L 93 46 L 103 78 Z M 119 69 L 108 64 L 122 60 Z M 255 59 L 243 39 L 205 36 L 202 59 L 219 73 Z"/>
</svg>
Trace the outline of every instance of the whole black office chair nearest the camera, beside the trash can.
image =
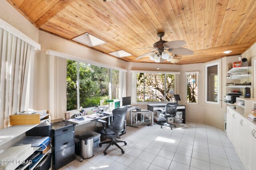
<svg viewBox="0 0 256 170">
<path fill-rule="evenodd" d="M 109 143 L 106 149 L 103 151 L 104 155 L 107 154 L 106 150 L 111 145 L 116 145 L 119 149 L 121 149 L 122 153 L 124 153 L 124 150 L 117 143 L 124 142 L 124 145 L 127 145 L 127 143 L 125 141 L 118 141 L 115 138 L 120 138 L 121 135 L 126 133 L 127 109 L 128 107 L 114 109 L 112 111 L 114 120 L 108 127 L 106 127 L 106 121 L 98 120 L 98 122 L 102 123 L 103 127 L 97 127 L 97 132 L 107 138 L 111 138 L 111 141 L 105 141 L 99 144 L 99 146 L 102 147 L 102 144 Z"/>
</svg>

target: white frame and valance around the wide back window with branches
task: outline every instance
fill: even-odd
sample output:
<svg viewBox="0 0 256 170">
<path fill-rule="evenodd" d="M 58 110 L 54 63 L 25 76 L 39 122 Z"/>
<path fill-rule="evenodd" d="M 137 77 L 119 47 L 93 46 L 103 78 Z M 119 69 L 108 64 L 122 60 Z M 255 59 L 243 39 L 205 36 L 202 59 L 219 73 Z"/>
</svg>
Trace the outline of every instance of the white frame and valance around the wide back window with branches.
<svg viewBox="0 0 256 170">
<path fill-rule="evenodd" d="M 130 73 L 153 73 L 153 74 L 165 74 L 165 86 L 166 86 L 166 74 L 174 74 L 174 94 L 175 92 L 178 91 L 178 74 L 180 74 L 180 72 L 167 72 L 167 71 L 144 71 L 144 70 L 131 70 Z M 136 83 L 134 84 L 134 86 L 132 86 L 132 88 L 134 88 L 134 99 L 135 99 L 135 104 L 136 105 L 141 105 L 141 104 L 154 104 L 154 103 L 168 103 L 170 101 L 166 101 L 166 88 L 165 88 L 165 92 L 164 92 L 164 101 L 156 101 L 156 102 L 137 102 L 137 76 L 134 77 Z M 145 86 L 144 86 L 145 88 Z M 144 95 L 145 96 L 145 95 Z M 144 100 L 145 101 L 145 100 Z M 175 101 L 173 101 L 175 102 Z"/>
</svg>

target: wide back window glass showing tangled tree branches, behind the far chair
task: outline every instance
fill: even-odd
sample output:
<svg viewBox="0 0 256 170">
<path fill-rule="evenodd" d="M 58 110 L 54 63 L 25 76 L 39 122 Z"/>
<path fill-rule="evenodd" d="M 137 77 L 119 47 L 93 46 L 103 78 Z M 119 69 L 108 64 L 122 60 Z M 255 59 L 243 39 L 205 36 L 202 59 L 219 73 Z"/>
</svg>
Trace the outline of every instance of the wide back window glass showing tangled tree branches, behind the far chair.
<svg viewBox="0 0 256 170">
<path fill-rule="evenodd" d="M 174 101 L 174 74 L 137 73 L 137 102 Z"/>
</svg>

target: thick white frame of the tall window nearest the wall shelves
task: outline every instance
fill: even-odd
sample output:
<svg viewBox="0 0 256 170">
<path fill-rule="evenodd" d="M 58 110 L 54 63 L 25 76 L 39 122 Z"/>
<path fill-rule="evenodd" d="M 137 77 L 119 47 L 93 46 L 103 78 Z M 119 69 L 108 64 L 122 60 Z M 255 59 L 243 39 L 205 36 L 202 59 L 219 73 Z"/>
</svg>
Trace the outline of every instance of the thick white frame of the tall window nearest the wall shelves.
<svg viewBox="0 0 256 170">
<path fill-rule="evenodd" d="M 207 76 L 208 76 L 208 70 L 207 68 L 210 67 L 210 66 L 215 66 L 217 65 L 217 70 L 218 70 L 218 73 L 217 73 L 217 76 L 218 76 L 218 92 L 217 92 L 217 102 L 210 102 L 210 101 L 207 101 L 207 94 L 208 94 L 208 81 L 207 81 Z M 220 105 L 220 96 L 221 96 L 221 63 L 220 61 L 215 61 L 213 63 L 209 63 L 209 64 L 206 64 L 205 67 L 204 67 L 204 72 L 205 72 L 205 76 L 204 76 L 204 103 L 205 104 L 213 104 L 213 105 Z"/>
</svg>

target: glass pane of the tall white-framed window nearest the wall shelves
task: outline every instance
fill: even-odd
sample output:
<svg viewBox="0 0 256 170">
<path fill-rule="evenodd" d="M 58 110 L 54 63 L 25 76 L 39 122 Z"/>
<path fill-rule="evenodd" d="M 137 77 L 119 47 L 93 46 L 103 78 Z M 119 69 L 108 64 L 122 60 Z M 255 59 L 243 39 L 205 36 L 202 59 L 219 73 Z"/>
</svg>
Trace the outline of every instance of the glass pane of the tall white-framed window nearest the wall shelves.
<svg viewBox="0 0 256 170">
<path fill-rule="evenodd" d="M 218 65 L 207 67 L 207 101 L 218 102 Z"/>
</svg>

